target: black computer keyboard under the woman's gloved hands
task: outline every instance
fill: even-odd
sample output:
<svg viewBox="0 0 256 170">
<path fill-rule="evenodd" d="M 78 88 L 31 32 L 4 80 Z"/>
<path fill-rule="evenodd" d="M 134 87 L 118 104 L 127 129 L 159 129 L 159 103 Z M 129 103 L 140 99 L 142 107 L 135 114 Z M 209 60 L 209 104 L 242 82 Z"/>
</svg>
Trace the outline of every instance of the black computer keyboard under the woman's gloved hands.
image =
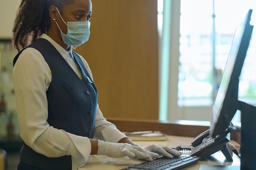
<svg viewBox="0 0 256 170">
<path fill-rule="evenodd" d="M 121 170 L 179 170 L 200 161 L 200 157 L 180 155 L 179 157 L 160 157 L 153 161 L 142 162 Z"/>
</svg>

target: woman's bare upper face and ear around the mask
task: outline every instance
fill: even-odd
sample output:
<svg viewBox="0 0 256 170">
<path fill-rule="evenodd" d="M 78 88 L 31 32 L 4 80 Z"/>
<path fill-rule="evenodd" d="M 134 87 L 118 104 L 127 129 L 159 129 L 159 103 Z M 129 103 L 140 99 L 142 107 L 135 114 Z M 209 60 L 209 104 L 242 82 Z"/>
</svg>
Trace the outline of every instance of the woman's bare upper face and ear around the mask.
<svg viewBox="0 0 256 170">
<path fill-rule="evenodd" d="M 91 0 L 74 0 L 74 3 L 65 5 L 59 12 L 61 16 L 56 13 L 56 22 L 61 28 L 63 33 L 67 33 L 67 22 L 76 21 L 89 21 L 92 14 L 92 2 Z M 65 23 L 63 22 L 63 20 Z"/>
</svg>

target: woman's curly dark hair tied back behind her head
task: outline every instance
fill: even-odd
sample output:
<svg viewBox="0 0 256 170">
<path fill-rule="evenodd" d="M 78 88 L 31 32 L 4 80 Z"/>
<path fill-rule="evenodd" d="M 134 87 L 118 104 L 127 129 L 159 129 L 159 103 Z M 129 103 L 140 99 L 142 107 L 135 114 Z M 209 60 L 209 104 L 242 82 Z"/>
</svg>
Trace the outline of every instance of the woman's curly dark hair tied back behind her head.
<svg viewBox="0 0 256 170">
<path fill-rule="evenodd" d="M 22 0 L 13 25 L 13 47 L 20 51 L 47 33 L 50 25 L 49 7 L 62 11 L 63 6 L 74 0 Z"/>
</svg>

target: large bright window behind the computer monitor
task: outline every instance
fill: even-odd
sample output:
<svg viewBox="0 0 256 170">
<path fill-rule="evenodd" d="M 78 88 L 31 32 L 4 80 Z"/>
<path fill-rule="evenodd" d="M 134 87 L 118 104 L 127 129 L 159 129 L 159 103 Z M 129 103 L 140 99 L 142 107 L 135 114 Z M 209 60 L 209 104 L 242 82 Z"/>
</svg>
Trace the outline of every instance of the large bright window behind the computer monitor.
<svg viewBox="0 0 256 170">
<path fill-rule="evenodd" d="M 177 108 L 211 107 L 218 91 L 235 29 L 243 21 L 249 9 L 253 9 L 251 24 L 256 26 L 254 24 L 254 20 L 256 20 L 256 2 L 252 0 L 180 0 L 179 2 L 180 28 L 175 30 L 176 33 L 180 33 L 179 56 L 177 56 L 179 60 L 177 63 L 166 60 L 170 63 L 168 65 L 169 69 L 175 64 L 178 65 L 177 82 L 172 82 L 177 84 L 176 105 Z M 158 3 L 160 7 L 164 0 L 158 0 Z M 166 9 L 164 7 L 164 10 Z M 174 8 L 170 7 L 167 10 L 171 9 Z M 158 15 L 165 15 L 165 13 L 159 10 Z M 162 18 L 164 17 L 158 17 L 159 29 L 162 28 Z M 179 17 L 179 15 L 176 13 L 175 17 Z M 171 22 L 171 20 L 167 20 L 167 22 Z M 256 104 L 256 77 L 252 74 L 256 71 L 254 66 L 256 50 L 253 50 L 253 46 L 256 46 L 254 32 L 241 73 L 238 92 L 239 99 L 252 104 Z M 162 40 L 161 38 L 166 35 L 164 33 L 162 35 L 161 30 L 159 30 L 159 33 L 160 40 Z M 162 46 L 164 47 L 164 44 Z M 162 50 L 162 53 L 164 52 Z M 164 57 L 162 57 L 162 60 L 164 60 Z M 166 62 L 162 61 L 162 63 Z M 172 77 L 168 78 L 172 79 Z M 160 99 L 163 102 L 164 98 L 160 97 Z M 166 103 L 170 104 L 170 102 L 169 99 Z"/>
</svg>

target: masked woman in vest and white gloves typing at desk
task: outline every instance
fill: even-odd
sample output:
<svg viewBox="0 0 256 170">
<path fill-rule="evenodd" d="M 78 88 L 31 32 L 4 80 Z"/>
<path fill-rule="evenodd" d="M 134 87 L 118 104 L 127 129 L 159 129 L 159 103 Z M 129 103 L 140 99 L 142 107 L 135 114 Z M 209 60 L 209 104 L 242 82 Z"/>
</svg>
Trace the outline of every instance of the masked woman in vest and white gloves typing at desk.
<svg viewBox="0 0 256 170">
<path fill-rule="evenodd" d="M 21 138 L 18 170 L 77 170 L 90 155 L 179 156 L 140 147 L 103 117 L 91 70 L 72 46 L 89 39 L 90 0 L 22 0 L 13 27 L 13 83 Z"/>
</svg>

